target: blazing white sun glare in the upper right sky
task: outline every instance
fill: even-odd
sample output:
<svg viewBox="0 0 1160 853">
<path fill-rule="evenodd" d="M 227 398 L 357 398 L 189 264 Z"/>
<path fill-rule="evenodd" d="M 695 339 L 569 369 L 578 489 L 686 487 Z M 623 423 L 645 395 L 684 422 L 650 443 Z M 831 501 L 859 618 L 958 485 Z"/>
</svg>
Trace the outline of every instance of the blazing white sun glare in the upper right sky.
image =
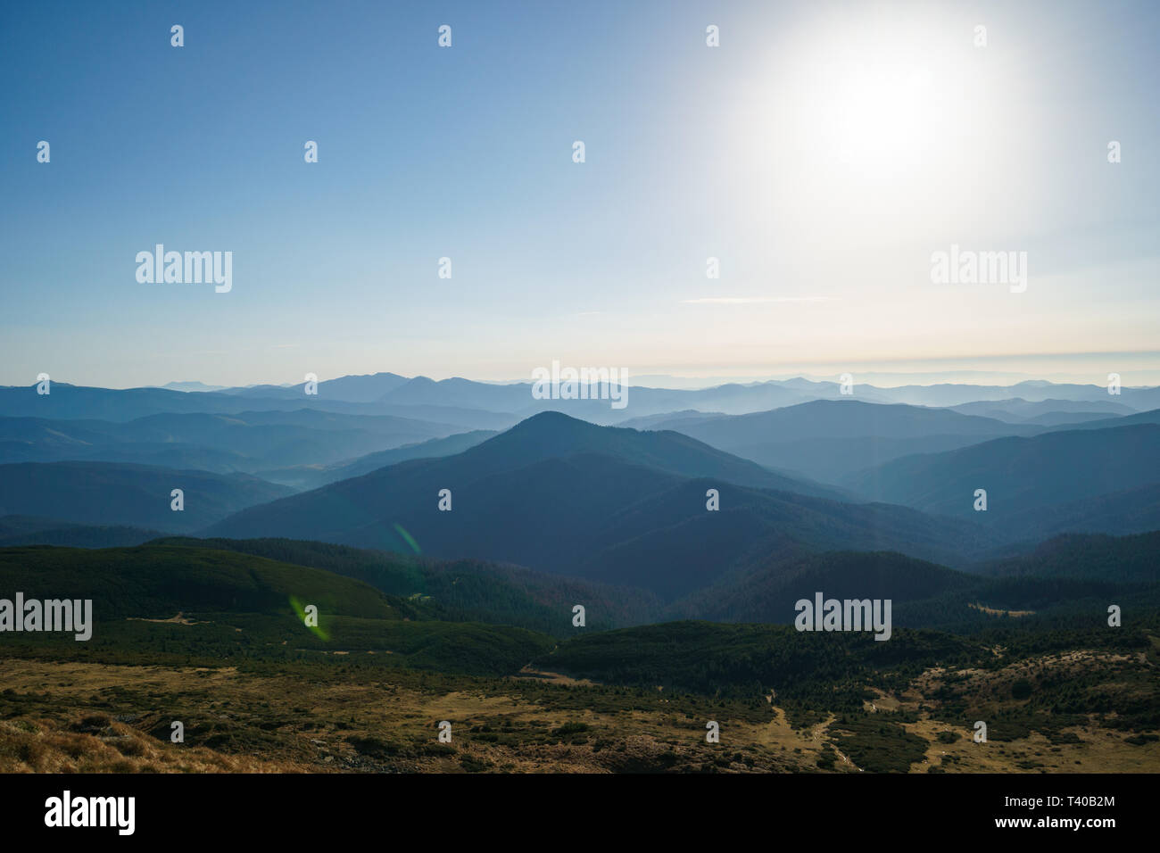
<svg viewBox="0 0 1160 853">
<path fill-rule="evenodd" d="M 751 131 L 732 144 L 754 224 L 795 246 L 853 247 L 981 209 L 980 175 L 1009 180 L 1012 99 L 972 36 L 937 10 L 783 30 L 739 100 L 737 125 Z"/>
</svg>

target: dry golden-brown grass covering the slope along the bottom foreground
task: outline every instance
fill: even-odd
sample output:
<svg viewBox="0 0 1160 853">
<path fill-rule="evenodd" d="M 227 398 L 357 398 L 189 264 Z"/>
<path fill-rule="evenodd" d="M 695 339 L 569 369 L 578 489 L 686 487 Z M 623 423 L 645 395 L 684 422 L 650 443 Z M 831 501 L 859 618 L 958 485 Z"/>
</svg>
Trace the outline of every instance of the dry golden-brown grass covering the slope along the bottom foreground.
<svg viewBox="0 0 1160 853">
<path fill-rule="evenodd" d="M 1109 656 L 1103 656 L 1109 657 Z M 1013 679 L 1036 667 L 1066 674 L 1094 658 L 1086 652 L 1028 662 L 996 672 L 965 671 L 959 686 L 999 697 Z M 1107 662 L 1104 662 L 1107 663 Z M 532 675 L 534 673 L 525 673 Z M 608 773 L 691 769 L 726 773 L 860 772 L 835 746 L 834 717 L 795 728 L 773 701 L 744 717 L 719 718 L 720 744 L 705 743 L 705 707 L 667 696 L 647 708 L 583 697 L 582 682 L 544 673 L 572 701 L 538 703 L 531 679 L 435 679 L 383 670 L 358 679 L 307 682 L 300 674 L 254 674 L 235 667 L 113 666 L 35 659 L 0 660 L 9 708 L 0 721 L 0 772 L 267 773 L 267 772 L 521 772 Z M 868 715 L 916 713 L 929 704 L 947 673 L 925 672 L 898 695 L 876 691 Z M 544 679 L 537 679 L 543 681 Z M 579 692 L 579 695 L 577 695 Z M 774 700 L 776 701 L 776 700 Z M 590 706 L 590 707 L 589 707 Z M 716 708 L 713 706 L 706 706 Z M 17 708 L 16 713 L 12 708 Z M 976 744 L 972 732 L 919 714 L 905 729 L 927 742 L 912 772 L 1155 772 L 1160 745 L 1133 746 L 1123 732 L 1094 724 L 1075 729 L 1080 742 L 1029 737 Z M 712 717 L 709 717 L 712 718 Z M 168 742 L 171 721 L 186 725 L 186 743 Z M 452 745 L 437 743 L 440 721 L 452 722 Z M 955 731 L 950 744 L 940 732 Z M 949 758 L 950 757 L 950 758 Z"/>
</svg>

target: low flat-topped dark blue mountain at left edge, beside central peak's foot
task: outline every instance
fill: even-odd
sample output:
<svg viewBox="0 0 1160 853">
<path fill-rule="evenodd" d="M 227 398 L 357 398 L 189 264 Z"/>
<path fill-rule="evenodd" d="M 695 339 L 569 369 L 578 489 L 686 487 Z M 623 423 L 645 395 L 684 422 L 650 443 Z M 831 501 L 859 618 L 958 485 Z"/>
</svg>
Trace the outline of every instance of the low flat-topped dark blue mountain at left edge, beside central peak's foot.
<svg viewBox="0 0 1160 853">
<path fill-rule="evenodd" d="M 184 509 L 171 509 L 174 489 Z M 218 475 L 110 462 L 0 465 L 0 515 L 67 525 L 189 532 L 292 490 L 244 474 Z"/>
</svg>

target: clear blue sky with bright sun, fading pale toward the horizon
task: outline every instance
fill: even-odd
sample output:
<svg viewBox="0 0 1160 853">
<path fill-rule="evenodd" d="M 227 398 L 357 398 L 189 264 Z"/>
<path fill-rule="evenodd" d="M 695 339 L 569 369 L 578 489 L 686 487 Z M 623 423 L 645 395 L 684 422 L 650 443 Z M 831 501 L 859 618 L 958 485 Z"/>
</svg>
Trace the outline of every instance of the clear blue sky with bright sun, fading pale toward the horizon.
<svg viewBox="0 0 1160 853">
<path fill-rule="evenodd" d="M 1155 2 L 5 3 L 0 384 L 1160 384 L 1157 43 Z M 232 289 L 139 282 L 157 244 Z"/>
</svg>

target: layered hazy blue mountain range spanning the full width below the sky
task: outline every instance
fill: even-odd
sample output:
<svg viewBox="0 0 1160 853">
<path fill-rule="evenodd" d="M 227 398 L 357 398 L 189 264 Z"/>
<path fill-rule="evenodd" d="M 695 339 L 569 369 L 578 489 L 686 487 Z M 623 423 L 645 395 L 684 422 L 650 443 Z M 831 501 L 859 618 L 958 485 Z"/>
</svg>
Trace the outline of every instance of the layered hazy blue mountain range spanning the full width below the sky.
<svg viewBox="0 0 1160 853">
<path fill-rule="evenodd" d="M 929 398 L 952 396 L 931 388 Z M 993 399 L 875 403 L 916 392 L 856 386 L 850 397 L 805 379 L 632 388 L 628 411 L 641 397 L 686 406 L 625 419 L 639 428 L 557 411 L 506 424 L 494 419 L 573 400 L 396 374 L 320 382 L 317 396 L 0 389 L 0 543 L 307 538 L 520 565 L 676 602 L 828 551 L 972 570 L 1059 534 L 1160 528 L 1160 411 L 1126 402 L 1152 390 L 1112 402 L 1096 386 L 1022 383 L 1017 397 L 955 388 Z M 802 402 L 811 395 L 828 398 Z M 795 402 L 730 413 L 774 398 Z M 13 411 L 37 406 L 41 417 Z M 181 411 L 139 413 L 154 406 Z M 106 417 L 77 417 L 92 410 Z M 385 410 L 483 413 L 501 431 Z M 1080 415 L 1090 420 L 1070 420 Z"/>
</svg>

